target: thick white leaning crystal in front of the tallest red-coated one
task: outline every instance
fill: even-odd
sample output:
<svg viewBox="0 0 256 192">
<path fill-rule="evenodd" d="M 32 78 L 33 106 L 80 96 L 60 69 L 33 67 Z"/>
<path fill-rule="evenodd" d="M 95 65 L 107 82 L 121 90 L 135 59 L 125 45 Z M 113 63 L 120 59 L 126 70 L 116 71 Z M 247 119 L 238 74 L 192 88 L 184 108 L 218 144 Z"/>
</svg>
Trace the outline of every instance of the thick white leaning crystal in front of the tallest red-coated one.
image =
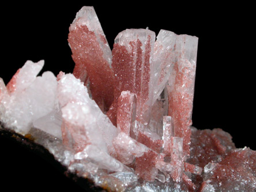
<svg viewBox="0 0 256 192">
<path fill-rule="evenodd" d="M 89 97 L 86 86 L 73 74 L 65 74 L 58 81 L 58 99 L 73 140 L 92 143 L 105 152 L 115 153 L 112 140 L 118 130 Z"/>
</svg>

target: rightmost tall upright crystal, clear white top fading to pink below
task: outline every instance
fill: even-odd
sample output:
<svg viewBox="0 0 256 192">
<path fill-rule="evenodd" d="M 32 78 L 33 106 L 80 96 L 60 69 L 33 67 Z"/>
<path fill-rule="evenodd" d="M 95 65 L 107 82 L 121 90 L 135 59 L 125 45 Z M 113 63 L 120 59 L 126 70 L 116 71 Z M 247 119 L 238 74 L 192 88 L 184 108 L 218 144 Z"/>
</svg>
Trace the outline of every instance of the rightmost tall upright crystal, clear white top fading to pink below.
<svg viewBox="0 0 256 192">
<path fill-rule="evenodd" d="M 190 126 L 194 97 L 198 38 L 176 36 L 175 63 L 169 78 L 168 115 L 174 119 L 174 135 L 183 138 L 185 155 L 190 154 Z"/>
</svg>

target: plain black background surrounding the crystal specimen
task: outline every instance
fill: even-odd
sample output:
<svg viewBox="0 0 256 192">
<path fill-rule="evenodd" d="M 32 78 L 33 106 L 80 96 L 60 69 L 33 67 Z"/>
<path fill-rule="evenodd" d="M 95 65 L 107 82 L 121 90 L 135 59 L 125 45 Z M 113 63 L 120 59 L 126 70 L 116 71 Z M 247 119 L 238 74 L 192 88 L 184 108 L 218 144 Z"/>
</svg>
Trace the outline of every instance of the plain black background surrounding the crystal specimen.
<svg viewBox="0 0 256 192">
<path fill-rule="evenodd" d="M 160 29 L 167 29 L 199 37 L 193 126 L 220 127 L 232 135 L 237 148 L 249 146 L 256 150 L 255 48 L 251 48 L 255 44 L 255 30 L 251 5 L 185 2 L 178 5 L 160 1 L 140 5 L 131 1 L 7 3 L 1 6 L 0 36 L 0 77 L 5 83 L 27 60 L 44 59 L 43 71 L 51 70 L 55 75 L 60 70 L 71 73 L 74 62 L 67 34 L 76 12 L 84 5 L 95 7 L 111 48 L 115 36 L 126 28 L 149 27 L 156 35 Z M 5 167 L 0 171 L 3 178 L 0 185 L 9 185 L 6 183 L 10 180 L 13 182 L 10 189 L 17 186 L 27 190 L 35 186 L 48 189 L 50 185 L 65 189 L 65 185 L 72 185 L 33 153 L 7 140 L 0 144 L 0 166 Z"/>
</svg>

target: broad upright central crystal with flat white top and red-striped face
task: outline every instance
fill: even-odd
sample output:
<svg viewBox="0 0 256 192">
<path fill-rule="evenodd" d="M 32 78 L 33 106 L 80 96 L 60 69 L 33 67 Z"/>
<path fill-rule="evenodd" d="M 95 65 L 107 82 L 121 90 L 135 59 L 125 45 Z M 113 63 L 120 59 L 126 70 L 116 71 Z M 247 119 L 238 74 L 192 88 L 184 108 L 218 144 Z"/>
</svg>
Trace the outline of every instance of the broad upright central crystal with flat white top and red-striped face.
<svg viewBox="0 0 256 192">
<path fill-rule="evenodd" d="M 130 31 L 134 30 L 134 33 Z M 137 31 L 136 31 L 137 30 Z M 131 35 L 129 38 L 122 36 Z M 134 36 L 133 36 L 134 35 Z M 155 33 L 148 29 L 127 29 L 116 37 L 112 50 L 112 69 L 116 77 L 115 99 L 108 116 L 116 125 L 117 99 L 122 91 L 137 95 L 136 119 L 140 122 L 149 120 L 145 114 L 149 109 L 150 52 Z M 123 38 L 123 39 L 122 39 Z"/>
</svg>

